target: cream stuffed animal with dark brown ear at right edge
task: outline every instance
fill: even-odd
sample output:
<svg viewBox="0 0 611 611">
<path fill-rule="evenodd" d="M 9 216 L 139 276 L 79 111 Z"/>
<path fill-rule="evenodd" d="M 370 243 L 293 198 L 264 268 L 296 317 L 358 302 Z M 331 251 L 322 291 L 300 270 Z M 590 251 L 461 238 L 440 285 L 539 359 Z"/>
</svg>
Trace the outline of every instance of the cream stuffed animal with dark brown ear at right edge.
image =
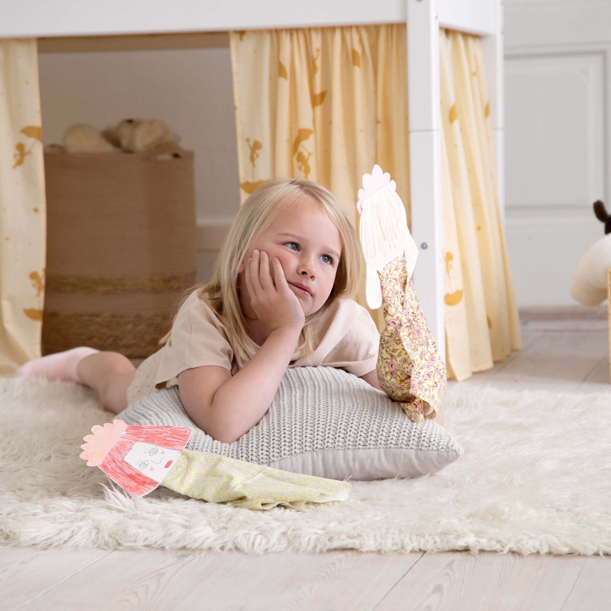
<svg viewBox="0 0 611 611">
<path fill-rule="evenodd" d="M 611 216 L 604 203 L 594 203 L 596 218 L 605 224 L 605 236 L 596 241 L 577 263 L 571 296 L 584 305 L 599 305 L 607 299 L 608 269 L 611 268 Z"/>
</svg>

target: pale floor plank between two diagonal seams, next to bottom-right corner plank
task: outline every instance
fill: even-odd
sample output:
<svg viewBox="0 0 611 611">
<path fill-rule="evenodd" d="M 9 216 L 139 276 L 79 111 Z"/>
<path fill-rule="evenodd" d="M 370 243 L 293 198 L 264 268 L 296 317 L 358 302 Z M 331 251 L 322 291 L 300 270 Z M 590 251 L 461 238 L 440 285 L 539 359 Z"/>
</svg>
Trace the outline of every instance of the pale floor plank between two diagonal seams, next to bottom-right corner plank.
<svg viewBox="0 0 611 611">
<path fill-rule="evenodd" d="M 425 554 L 375 611 L 561 611 L 585 556 Z"/>
</svg>

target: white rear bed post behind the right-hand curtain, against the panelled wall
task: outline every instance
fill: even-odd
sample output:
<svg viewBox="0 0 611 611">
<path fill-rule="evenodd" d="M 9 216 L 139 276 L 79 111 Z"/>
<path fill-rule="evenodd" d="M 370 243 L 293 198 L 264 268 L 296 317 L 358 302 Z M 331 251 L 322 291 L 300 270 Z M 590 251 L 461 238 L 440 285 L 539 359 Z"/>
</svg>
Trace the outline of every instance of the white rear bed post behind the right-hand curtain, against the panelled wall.
<svg viewBox="0 0 611 611">
<path fill-rule="evenodd" d="M 499 213 L 505 221 L 505 50 L 503 46 L 503 0 L 492 0 L 494 34 L 483 36 L 481 53 L 484 56 L 490 119 L 492 121 L 492 145 L 496 155 L 499 188 Z"/>
</svg>

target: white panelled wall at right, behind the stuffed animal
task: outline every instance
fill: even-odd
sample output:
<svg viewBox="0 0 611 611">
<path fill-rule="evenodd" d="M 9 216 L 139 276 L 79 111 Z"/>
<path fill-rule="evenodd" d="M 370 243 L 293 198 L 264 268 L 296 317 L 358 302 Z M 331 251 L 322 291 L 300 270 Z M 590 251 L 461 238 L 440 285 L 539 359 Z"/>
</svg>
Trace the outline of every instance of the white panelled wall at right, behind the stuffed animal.
<svg viewBox="0 0 611 611">
<path fill-rule="evenodd" d="M 505 0 L 505 214 L 519 305 L 577 305 L 611 210 L 611 2 Z"/>
</svg>

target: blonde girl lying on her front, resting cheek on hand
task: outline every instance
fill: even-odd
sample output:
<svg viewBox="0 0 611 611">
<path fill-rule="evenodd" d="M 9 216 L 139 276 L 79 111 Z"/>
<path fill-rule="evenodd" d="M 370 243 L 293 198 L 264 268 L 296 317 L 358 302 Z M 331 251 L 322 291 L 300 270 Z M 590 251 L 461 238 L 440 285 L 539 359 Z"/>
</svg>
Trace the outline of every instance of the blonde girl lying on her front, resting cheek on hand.
<svg viewBox="0 0 611 611">
<path fill-rule="evenodd" d="M 231 443 L 265 414 L 287 367 L 342 367 L 379 389 L 379 334 L 352 299 L 361 276 L 337 199 L 311 181 L 270 180 L 238 211 L 211 281 L 189 289 L 163 347 L 137 370 L 122 354 L 81 346 L 15 376 L 73 379 L 114 413 L 177 385 L 193 422 Z"/>
</svg>

